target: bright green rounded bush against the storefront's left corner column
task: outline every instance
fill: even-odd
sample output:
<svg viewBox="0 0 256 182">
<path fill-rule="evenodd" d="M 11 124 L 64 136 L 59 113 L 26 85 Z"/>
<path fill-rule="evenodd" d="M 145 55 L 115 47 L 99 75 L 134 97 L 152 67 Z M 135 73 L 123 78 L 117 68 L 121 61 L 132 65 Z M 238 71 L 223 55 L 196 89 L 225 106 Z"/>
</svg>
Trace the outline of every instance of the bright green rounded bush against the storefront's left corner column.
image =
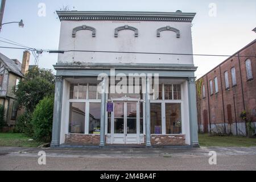
<svg viewBox="0 0 256 182">
<path fill-rule="evenodd" d="M 53 120 L 53 96 L 44 97 L 36 105 L 32 114 L 32 126 L 34 130 L 34 139 L 40 142 L 51 142 L 52 120 Z"/>
</svg>

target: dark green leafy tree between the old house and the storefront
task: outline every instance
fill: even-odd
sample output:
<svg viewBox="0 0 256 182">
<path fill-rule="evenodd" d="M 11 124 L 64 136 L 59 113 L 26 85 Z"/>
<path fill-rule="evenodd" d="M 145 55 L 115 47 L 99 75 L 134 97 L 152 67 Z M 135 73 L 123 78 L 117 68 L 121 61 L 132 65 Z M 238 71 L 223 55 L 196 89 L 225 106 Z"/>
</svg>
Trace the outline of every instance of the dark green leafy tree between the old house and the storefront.
<svg viewBox="0 0 256 182">
<path fill-rule="evenodd" d="M 54 93 L 54 82 L 55 77 L 51 70 L 33 68 L 14 90 L 17 106 L 32 113 L 40 100 Z"/>
</svg>

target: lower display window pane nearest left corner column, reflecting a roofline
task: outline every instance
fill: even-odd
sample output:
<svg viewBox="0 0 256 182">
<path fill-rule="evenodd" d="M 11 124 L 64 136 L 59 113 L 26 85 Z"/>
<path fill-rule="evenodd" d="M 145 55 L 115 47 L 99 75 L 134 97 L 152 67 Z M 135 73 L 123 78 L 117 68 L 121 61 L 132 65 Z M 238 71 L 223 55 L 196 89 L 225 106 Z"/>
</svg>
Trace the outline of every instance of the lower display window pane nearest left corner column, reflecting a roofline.
<svg viewBox="0 0 256 182">
<path fill-rule="evenodd" d="M 85 103 L 71 102 L 69 107 L 69 133 L 84 134 Z"/>
</svg>

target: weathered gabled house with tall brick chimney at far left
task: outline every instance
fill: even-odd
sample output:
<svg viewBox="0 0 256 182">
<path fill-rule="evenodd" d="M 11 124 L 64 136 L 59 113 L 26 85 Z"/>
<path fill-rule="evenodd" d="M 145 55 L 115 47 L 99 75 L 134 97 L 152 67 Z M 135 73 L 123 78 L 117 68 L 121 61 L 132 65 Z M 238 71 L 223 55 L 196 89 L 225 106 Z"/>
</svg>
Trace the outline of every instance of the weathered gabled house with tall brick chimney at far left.
<svg viewBox="0 0 256 182">
<path fill-rule="evenodd" d="M 24 51 L 23 60 L 20 63 L 16 59 L 9 59 L 0 53 L 0 104 L 5 106 L 6 127 L 10 130 L 16 124 L 18 110 L 15 107 L 14 88 L 28 71 L 30 52 Z"/>
</svg>

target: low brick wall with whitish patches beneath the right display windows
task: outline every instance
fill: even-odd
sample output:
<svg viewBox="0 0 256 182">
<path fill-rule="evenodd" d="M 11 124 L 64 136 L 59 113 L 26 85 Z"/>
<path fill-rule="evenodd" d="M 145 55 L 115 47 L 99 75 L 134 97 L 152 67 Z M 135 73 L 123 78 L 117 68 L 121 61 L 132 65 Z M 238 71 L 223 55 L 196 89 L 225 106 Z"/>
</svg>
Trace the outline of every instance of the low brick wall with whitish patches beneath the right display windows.
<svg viewBox="0 0 256 182">
<path fill-rule="evenodd" d="M 185 135 L 151 135 L 151 144 L 162 146 L 183 146 Z"/>
</svg>

